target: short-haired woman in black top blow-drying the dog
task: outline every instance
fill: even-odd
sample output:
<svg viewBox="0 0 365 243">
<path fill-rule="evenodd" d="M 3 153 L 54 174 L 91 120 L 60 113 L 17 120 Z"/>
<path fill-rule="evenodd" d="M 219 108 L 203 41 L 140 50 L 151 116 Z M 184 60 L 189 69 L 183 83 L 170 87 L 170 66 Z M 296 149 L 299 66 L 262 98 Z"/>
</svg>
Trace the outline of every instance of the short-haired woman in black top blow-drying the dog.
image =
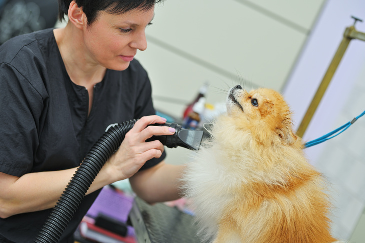
<svg viewBox="0 0 365 243">
<path fill-rule="evenodd" d="M 179 197 L 184 166 L 163 162 L 171 135 L 155 113 L 146 71 L 155 0 L 59 0 L 64 28 L 18 36 L 0 46 L 0 241 L 33 242 L 95 141 L 113 123 L 139 119 L 101 169 L 60 242 L 72 234 L 100 189 L 130 179 L 146 201 Z M 148 126 L 148 127 L 147 127 Z M 147 128 L 146 128 L 147 127 Z M 146 162 L 147 161 L 147 162 Z"/>
</svg>

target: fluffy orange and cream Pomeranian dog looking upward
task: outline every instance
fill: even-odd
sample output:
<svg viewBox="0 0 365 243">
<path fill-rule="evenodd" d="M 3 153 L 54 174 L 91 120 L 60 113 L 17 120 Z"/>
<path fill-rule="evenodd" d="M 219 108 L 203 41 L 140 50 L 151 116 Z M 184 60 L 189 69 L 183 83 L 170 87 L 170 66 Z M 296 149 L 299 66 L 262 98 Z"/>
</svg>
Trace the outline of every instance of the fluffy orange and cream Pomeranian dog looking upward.
<svg viewBox="0 0 365 243">
<path fill-rule="evenodd" d="M 283 97 L 237 85 L 226 105 L 183 176 L 202 240 L 335 242 L 325 182 L 304 156 Z"/>
</svg>

